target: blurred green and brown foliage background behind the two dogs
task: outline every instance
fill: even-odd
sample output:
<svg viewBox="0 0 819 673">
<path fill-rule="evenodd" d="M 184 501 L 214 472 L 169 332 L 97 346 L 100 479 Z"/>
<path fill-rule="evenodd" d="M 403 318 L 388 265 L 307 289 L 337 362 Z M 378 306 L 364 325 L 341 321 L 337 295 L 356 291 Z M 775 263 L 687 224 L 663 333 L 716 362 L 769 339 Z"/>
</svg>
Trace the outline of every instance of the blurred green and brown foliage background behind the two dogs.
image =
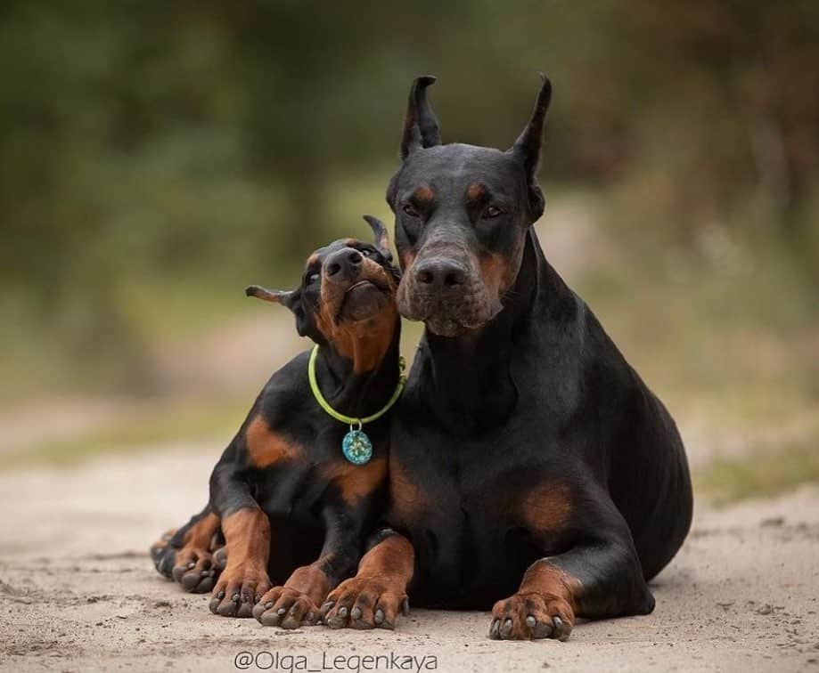
<svg viewBox="0 0 819 673">
<path fill-rule="evenodd" d="M 0 65 L 4 403 L 167 394 L 158 351 L 389 215 L 413 77 L 505 148 L 539 70 L 543 226 L 630 359 L 684 407 L 819 401 L 815 2 L 6 0 Z"/>
</svg>

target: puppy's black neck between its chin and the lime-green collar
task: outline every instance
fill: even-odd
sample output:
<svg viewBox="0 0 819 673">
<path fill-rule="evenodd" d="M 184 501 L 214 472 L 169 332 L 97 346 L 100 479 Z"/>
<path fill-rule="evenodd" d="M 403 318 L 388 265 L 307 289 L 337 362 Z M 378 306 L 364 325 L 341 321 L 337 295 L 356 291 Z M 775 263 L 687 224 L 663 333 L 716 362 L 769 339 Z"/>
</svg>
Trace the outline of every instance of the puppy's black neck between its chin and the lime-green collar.
<svg viewBox="0 0 819 673">
<path fill-rule="evenodd" d="M 380 361 L 362 370 L 332 344 L 322 345 L 315 360 L 315 378 L 324 399 L 345 416 L 363 418 L 380 411 L 398 385 L 401 321 L 396 316 L 392 337 Z"/>
</svg>

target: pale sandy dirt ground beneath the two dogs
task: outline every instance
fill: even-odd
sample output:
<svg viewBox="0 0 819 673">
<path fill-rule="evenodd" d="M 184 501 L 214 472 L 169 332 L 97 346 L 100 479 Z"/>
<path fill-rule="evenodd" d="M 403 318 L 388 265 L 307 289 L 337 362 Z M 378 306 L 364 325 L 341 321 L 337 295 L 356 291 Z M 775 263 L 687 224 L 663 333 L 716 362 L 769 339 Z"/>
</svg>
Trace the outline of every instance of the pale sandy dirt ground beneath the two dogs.
<svg viewBox="0 0 819 673">
<path fill-rule="evenodd" d="M 243 669 L 819 671 L 819 489 L 698 507 L 653 584 L 656 611 L 579 624 L 567 643 L 491 641 L 482 612 L 414 610 L 395 632 L 285 632 L 211 615 L 148 558 L 160 531 L 201 507 L 218 452 L 0 474 L 0 668 L 228 671 L 250 653 Z"/>
</svg>

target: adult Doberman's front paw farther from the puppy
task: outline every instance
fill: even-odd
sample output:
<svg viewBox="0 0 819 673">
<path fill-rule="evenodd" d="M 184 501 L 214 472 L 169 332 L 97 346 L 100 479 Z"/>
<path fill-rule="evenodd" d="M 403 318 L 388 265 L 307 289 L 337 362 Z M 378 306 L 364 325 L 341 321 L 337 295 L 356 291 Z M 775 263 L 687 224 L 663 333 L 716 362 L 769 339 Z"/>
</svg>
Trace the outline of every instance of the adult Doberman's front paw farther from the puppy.
<svg viewBox="0 0 819 673">
<path fill-rule="evenodd" d="M 553 594 L 515 594 L 495 603 L 489 637 L 496 640 L 567 640 L 575 623 L 571 605 Z"/>
</svg>

